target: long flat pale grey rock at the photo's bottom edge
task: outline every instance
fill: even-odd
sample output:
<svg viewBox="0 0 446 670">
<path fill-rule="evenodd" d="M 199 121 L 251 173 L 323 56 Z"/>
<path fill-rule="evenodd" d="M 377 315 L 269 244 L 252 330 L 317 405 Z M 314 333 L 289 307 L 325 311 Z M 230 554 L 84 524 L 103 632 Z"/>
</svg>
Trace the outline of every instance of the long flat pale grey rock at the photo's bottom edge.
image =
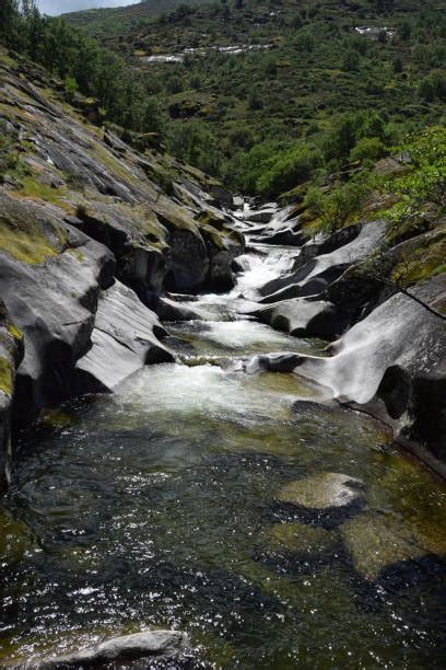
<svg viewBox="0 0 446 670">
<path fill-rule="evenodd" d="M 40 668 L 99 668 L 104 663 L 137 661 L 141 658 L 174 658 L 189 644 L 179 631 L 145 631 L 113 637 L 70 656 L 48 659 Z"/>
</svg>

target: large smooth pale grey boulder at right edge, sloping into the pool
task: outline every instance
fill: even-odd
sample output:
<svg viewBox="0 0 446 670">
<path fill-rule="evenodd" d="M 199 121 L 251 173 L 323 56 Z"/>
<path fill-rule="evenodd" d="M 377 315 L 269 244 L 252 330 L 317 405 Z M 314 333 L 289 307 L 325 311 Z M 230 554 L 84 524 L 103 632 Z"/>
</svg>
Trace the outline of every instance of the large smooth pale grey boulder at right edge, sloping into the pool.
<svg viewBox="0 0 446 670">
<path fill-rule="evenodd" d="M 396 292 L 379 304 L 330 345 L 330 356 L 262 356 L 247 369 L 294 370 L 319 383 L 339 402 L 386 420 L 399 440 L 444 472 L 446 275 L 409 293 L 413 298 Z"/>
</svg>

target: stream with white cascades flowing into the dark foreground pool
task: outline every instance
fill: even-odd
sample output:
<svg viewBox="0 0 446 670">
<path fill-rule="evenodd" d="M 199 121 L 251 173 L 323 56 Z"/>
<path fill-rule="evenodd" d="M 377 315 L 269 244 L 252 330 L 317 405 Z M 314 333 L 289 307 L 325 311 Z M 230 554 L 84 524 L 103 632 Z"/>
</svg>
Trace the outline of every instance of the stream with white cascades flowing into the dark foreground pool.
<svg viewBox="0 0 446 670">
<path fill-rule="evenodd" d="M 177 362 L 21 437 L 0 507 L 2 667 L 148 627 L 187 631 L 192 668 L 443 667 L 445 486 L 372 418 L 239 363 L 325 346 L 244 315 L 296 253 L 250 244 L 236 287 L 168 326 Z M 361 508 L 327 522 L 280 504 L 327 472 L 361 480 Z"/>
</svg>

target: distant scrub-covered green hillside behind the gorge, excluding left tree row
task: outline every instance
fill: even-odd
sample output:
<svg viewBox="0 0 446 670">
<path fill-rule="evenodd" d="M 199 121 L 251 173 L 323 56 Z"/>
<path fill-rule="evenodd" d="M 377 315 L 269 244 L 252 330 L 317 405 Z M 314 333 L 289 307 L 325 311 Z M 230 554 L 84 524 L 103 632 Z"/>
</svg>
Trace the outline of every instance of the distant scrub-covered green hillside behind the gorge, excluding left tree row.
<svg viewBox="0 0 446 670">
<path fill-rule="evenodd" d="M 350 160 L 379 159 L 408 132 L 442 122 L 441 5 L 228 0 L 130 30 L 136 8 L 127 8 L 89 30 L 144 76 L 169 151 L 233 188 L 275 197 Z M 215 51 L 237 45 L 262 49 Z M 163 54 L 180 61 L 148 62 Z"/>
</svg>

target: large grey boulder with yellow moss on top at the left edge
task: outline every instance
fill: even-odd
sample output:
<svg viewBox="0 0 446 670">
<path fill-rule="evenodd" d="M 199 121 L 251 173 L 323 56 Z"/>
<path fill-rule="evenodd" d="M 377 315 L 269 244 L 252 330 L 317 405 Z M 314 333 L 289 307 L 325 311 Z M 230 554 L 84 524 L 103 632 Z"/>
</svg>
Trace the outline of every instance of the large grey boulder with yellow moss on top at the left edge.
<svg viewBox="0 0 446 670">
<path fill-rule="evenodd" d="M 115 259 L 47 205 L 0 193 L 0 290 L 25 345 L 14 416 L 28 420 L 69 394 Z"/>
</svg>

